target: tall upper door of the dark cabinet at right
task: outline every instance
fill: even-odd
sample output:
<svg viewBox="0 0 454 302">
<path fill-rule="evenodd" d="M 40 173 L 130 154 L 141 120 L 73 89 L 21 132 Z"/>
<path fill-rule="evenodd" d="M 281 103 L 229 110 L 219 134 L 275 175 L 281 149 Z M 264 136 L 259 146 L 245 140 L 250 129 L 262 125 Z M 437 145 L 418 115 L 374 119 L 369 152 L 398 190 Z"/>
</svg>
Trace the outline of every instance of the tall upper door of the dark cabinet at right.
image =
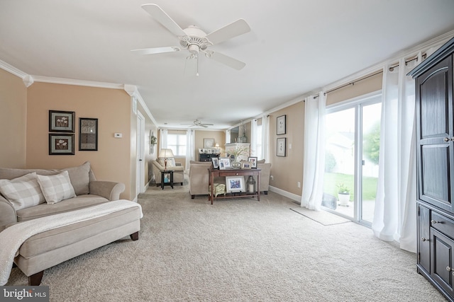
<svg viewBox="0 0 454 302">
<path fill-rule="evenodd" d="M 418 199 L 454 211 L 453 60 L 447 57 L 416 81 Z"/>
</svg>

